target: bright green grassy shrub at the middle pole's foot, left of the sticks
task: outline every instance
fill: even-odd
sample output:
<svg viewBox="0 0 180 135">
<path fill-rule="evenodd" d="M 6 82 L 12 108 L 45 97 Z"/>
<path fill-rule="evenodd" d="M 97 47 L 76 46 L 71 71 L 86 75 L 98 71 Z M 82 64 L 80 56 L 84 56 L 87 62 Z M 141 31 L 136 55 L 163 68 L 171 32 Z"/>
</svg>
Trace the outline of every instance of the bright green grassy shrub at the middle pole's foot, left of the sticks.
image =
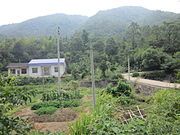
<svg viewBox="0 0 180 135">
<path fill-rule="evenodd" d="M 104 132 L 109 130 L 114 125 L 110 126 L 111 114 L 115 108 L 116 99 L 107 93 L 102 93 L 96 102 L 96 107 L 91 114 L 83 114 L 70 127 L 72 135 L 89 135 L 89 134 L 107 134 Z M 107 120 L 108 119 L 108 120 Z M 101 124 L 101 125 L 100 125 Z M 104 126 L 106 124 L 106 126 Z M 109 128 L 107 128 L 110 126 Z M 106 129 L 107 128 L 107 129 Z"/>
</svg>

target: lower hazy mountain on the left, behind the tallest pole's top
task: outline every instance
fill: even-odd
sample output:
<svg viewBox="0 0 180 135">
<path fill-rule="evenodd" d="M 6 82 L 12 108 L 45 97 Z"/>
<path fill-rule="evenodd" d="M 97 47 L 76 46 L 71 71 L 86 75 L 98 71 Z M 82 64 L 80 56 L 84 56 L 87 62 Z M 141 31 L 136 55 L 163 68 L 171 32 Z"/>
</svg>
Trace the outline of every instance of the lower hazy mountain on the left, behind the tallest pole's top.
<svg viewBox="0 0 180 135">
<path fill-rule="evenodd" d="M 53 14 L 30 19 L 22 23 L 1 26 L 0 34 L 12 37 L 50 36 L 55 35 L 57 26 L 60 26 L 62 34 L 70 36 L 87 19 L 86 16 Z"/>
</svg>

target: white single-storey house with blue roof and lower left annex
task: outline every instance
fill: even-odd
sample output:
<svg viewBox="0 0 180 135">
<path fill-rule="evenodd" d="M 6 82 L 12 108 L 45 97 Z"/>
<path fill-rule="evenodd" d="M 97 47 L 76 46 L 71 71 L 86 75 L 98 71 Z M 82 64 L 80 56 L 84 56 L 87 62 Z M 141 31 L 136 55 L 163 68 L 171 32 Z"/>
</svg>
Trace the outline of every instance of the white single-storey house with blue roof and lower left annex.
<svg viewBox="0 0 180 135">
<path fill-rule="evenodd" d="M 10 63 L 8 75 L 26 75 L 31 77 L 58 77 L 58 59 L 32 59 L 29 63 Z M 66 69 L 65 59 L 60 59 L 60 76 Z"/>
</svg>

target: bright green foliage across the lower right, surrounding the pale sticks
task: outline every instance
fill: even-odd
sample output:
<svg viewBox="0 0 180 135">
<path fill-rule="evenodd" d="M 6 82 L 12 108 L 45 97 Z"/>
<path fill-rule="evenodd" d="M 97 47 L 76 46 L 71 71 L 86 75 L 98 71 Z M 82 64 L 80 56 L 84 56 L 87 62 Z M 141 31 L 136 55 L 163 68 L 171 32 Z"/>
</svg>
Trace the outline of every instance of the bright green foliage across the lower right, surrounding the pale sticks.
<svg viewBox="0 0 180 135">
<path fill-rule="evenodd" d="M 127 123 L 115 119 L 114 112 L 117 111 L 118 100 L 103 94 L 98 98 L 97 108 L 93 113 L 88 116 L 82 115 L 72 125 L 71 134 L 178 135 L 180 133 L 179 94 L 177 90 L 160 90 L 151 98 L 145 120 L 134 117 L 129 118 Z M 124 109 L 129 111 L 129 108 Z"/>
</svg>

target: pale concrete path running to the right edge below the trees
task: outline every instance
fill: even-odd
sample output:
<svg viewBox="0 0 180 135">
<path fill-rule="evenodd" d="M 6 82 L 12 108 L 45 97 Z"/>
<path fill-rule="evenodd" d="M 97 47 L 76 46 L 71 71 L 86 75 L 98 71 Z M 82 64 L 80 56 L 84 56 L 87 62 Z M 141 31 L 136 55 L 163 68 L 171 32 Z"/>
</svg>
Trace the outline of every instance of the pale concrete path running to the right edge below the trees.
<svg viewBox="0 0 180 135">
<path fill-rule="evenodd" d="M 128 80 L 128 74 L 122 74 L 122 75 L 126 80 Z M 136 81 L 141 84 L 146 84 L 146 85 L 155 86 L 155 87 L 162 87 L 162 88 L 180 88 L 179 83 L 155 81 L 155 80 L 143 79 L 140 77 L 130 77 L 130 81 L 132 82 Z"/>
</svg>

